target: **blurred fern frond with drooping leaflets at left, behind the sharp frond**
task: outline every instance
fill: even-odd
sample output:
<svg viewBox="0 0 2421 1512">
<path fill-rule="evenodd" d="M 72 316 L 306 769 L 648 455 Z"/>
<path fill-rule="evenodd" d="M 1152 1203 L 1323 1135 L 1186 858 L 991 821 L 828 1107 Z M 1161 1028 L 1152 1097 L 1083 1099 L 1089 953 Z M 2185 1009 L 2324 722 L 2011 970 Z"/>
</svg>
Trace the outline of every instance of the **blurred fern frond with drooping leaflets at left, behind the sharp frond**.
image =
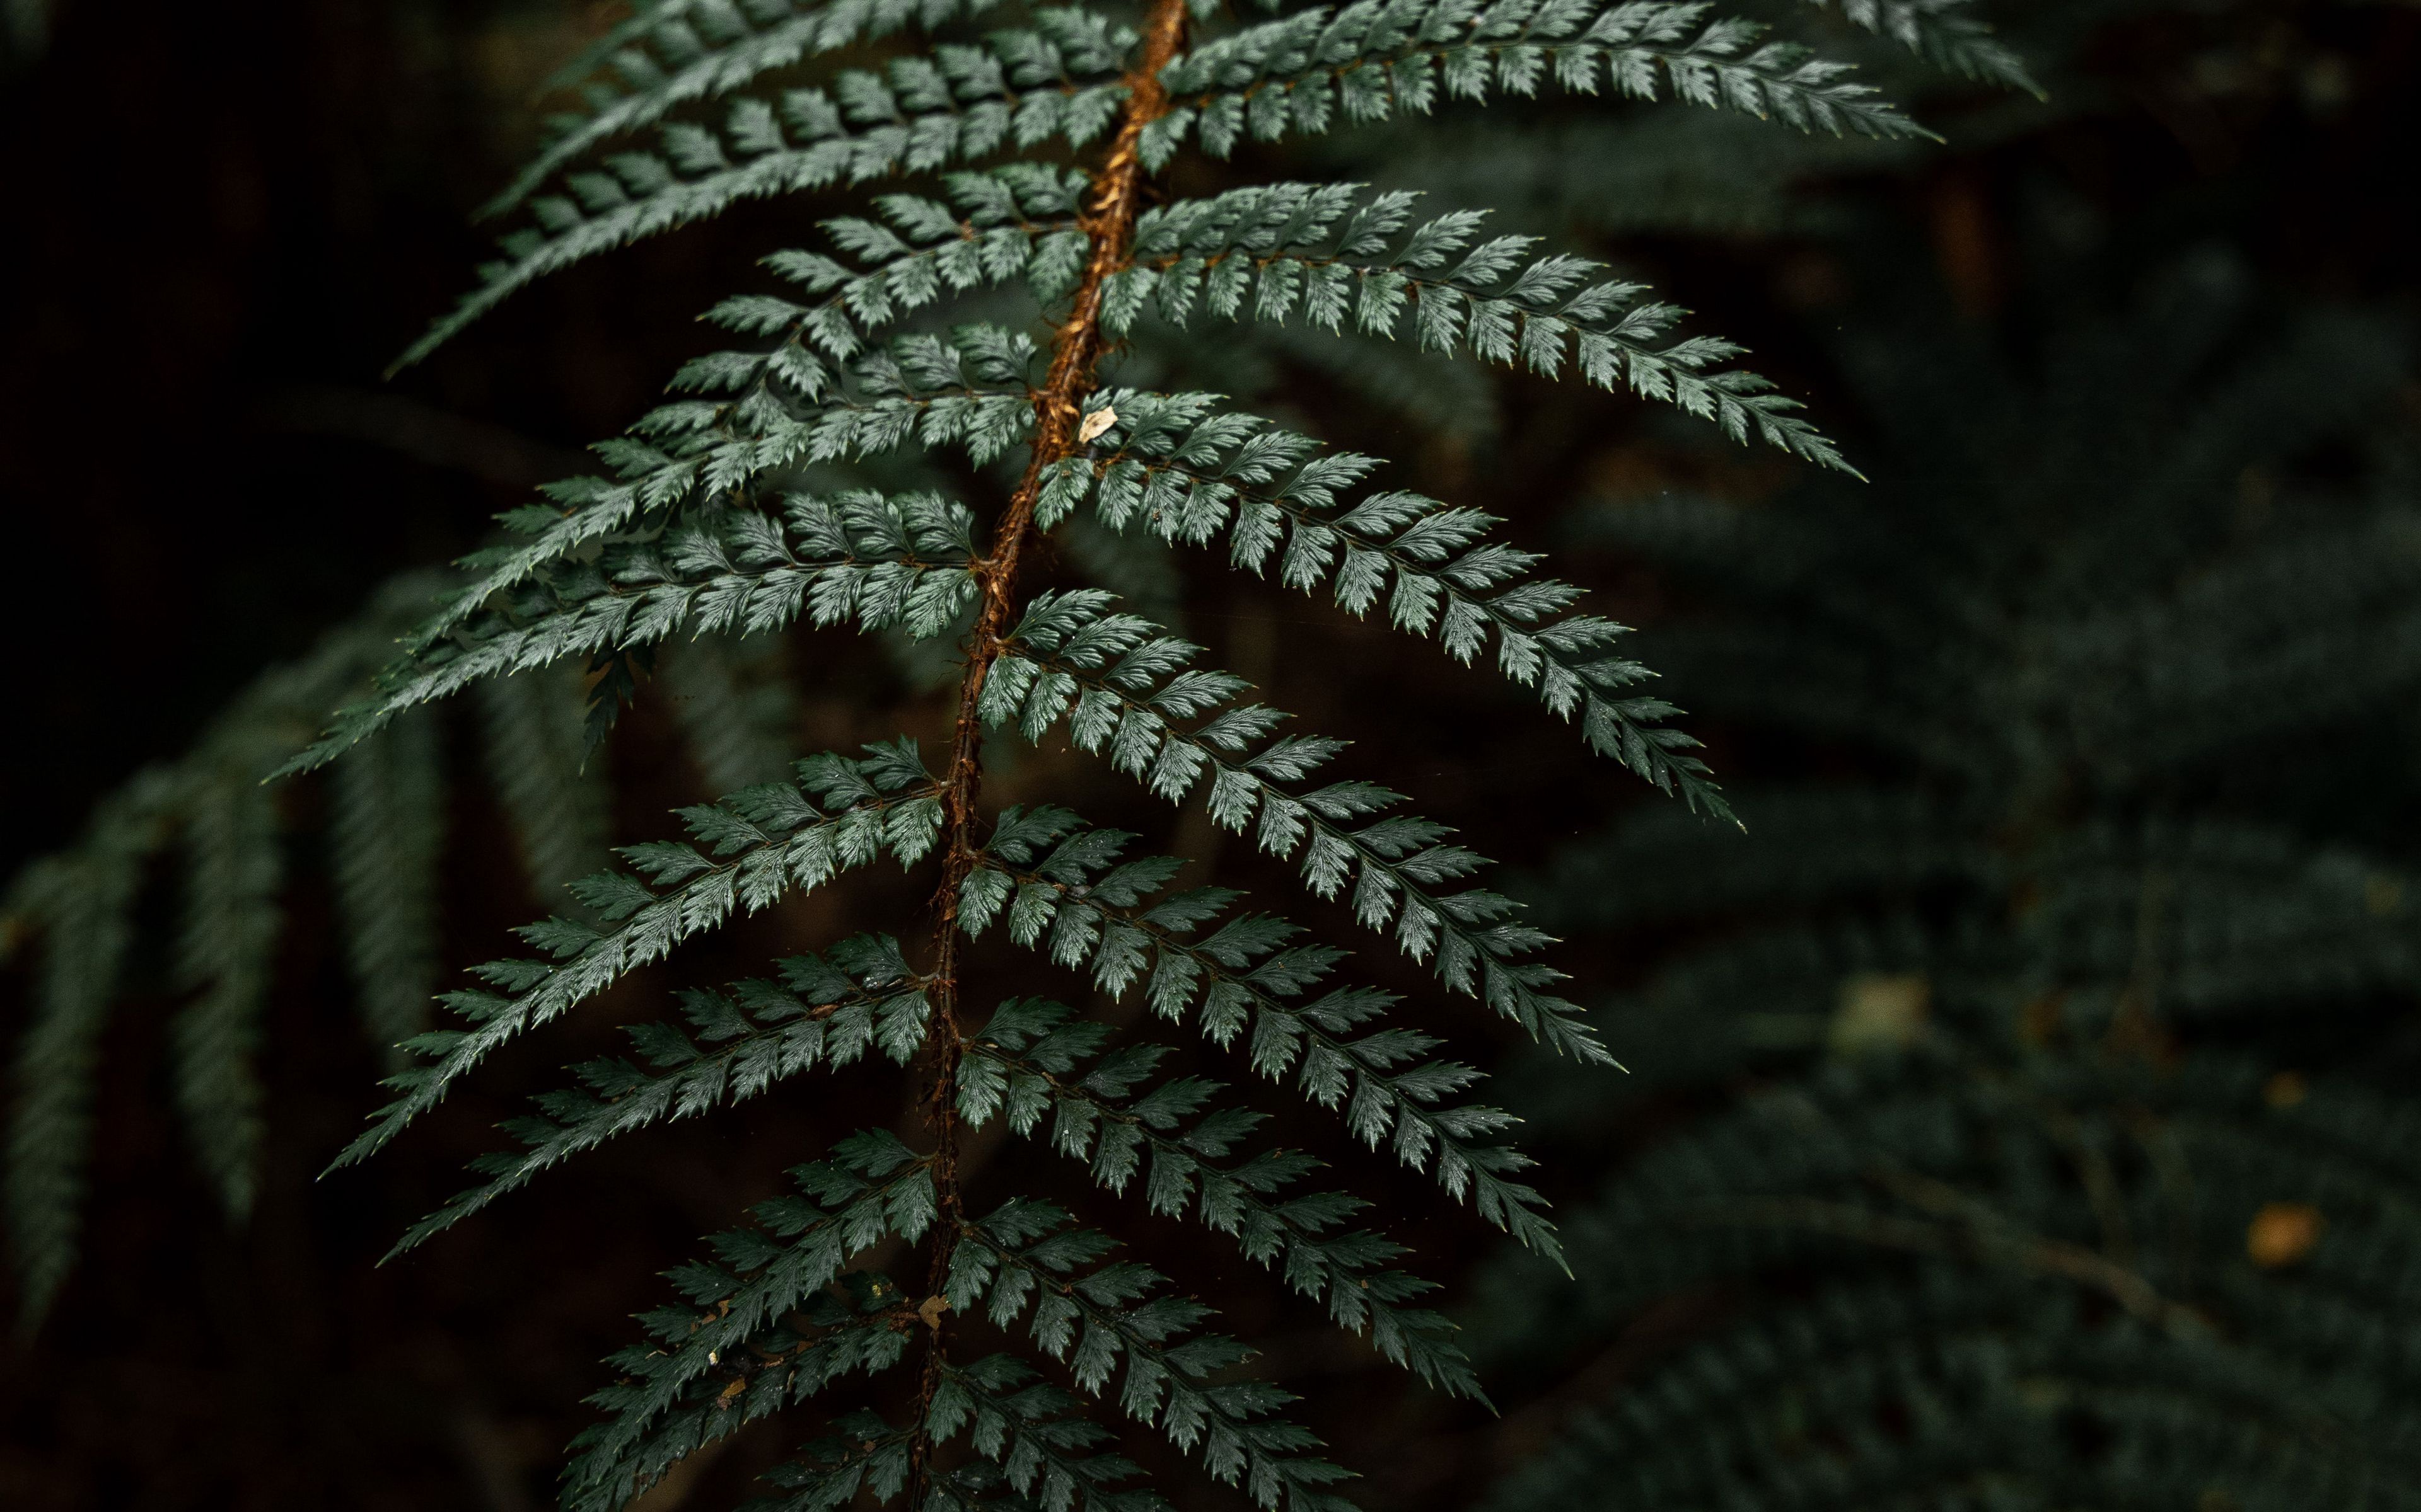
<svg viewBox="0 0 2421 1512">
<path fill-rule="evenodd" d="M 133 948 L 153 881 L 174 895 L 165 985 L 184 997 L 169 1067 L 196 1164 L 230 1214 L 252 1198 L 261 1137 L 259 1040 L 283 936 L 293 823 L 264 786 L 334 699 L 358 687 L 421 617 L 445 578 L 392 583 L 361 622 L 307 660 L 266 673 L 182 760 L 138 774 L 82 839 L 27 868 L 7 895 L 7 948 L 34 958 L 34 1018 L 15 1064 L 7 1212 L 27 1316 L 39 1318 L 75 1260 L 82 1166 L 92 1144 L 94 1055 L 109 1014 L 153 968 Z M 685 648 L 697 656 L 697 648 Z M 782 740 L 789 699 L 692 689 L 690 723 L 709 767 L 743 731 Z M 765 694 L 772 694 L 770 699 Z M 583 774 L 581 682 L 533 673 L 482 685 L 487 781 L 511 815 L 533 888 L 554 890 L 605 849 L 600 772 Z M 441 861 L 448 784 L 433 714 L 395 721 L 337 769 L 324 835 L 361 1028 L 404 1055 L 438 987 Z M 160 861 L 172 861 L 160 876 Z M 133 980 L 131 980 L 133 975 Z"/>
</svg>

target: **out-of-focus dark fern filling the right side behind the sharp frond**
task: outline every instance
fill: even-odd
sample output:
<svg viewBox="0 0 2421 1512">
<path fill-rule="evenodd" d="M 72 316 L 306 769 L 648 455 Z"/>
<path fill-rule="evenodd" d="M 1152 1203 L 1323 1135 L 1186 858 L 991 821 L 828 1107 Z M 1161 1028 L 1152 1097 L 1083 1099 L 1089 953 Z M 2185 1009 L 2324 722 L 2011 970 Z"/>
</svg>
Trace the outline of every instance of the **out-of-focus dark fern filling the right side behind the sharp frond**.
<svg viewBox="0 0 2421 1512">
<path fill-rule="evenodd" d="M 2336 777 L 2421 685 L 2404 336 L 2196 259 L 2038 377 L 1884 341 L 1876 489 L 1588 515 L 1709 605 L 1661 665 L 1879 777 L 1569 849 L 1557 924 L 1707 941 L 1608 1033 L 1719 1110 L 1486 1335 L 1726 1321 L 1491 1505 L 2416 1505 L 2414 861 Z"/>
</svg>

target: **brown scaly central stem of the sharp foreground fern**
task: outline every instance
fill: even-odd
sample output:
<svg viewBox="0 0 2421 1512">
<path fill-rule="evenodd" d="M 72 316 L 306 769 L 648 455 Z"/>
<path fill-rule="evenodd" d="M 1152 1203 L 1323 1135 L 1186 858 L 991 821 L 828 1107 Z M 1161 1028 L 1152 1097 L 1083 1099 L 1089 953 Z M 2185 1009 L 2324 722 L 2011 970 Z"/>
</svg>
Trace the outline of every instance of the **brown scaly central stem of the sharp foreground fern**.
<svg viewBox="0 0 2421 1512">
<path fill-rule="evenodd" d="M 1169 111 L 1167 90 L 1160 87 L 1160 70 L 1177 56 L 1186 34 L 1186 0 L 1152 0 L 1150 19 L 1143 27 L 1143 53 L 1126 75 L 1126 106 L 1119 116 L 1119 135 L 1109 145 L 1092 181 L 1092 196 L 1077 225 L 1092 242 L 1085 261 L 1085 278 L 1077 283 L 1068 319 L 1051 339 L 1051 373 L 1034 394 L 1034 455 L 1027 474 L 1010 496 L 1010 508 L 993 532 L 993 549 L 976 564 L 976 583 L 983 588 L 983 610 L 976 614 L 976 631 L 966 648 L 966 675 L 959 680 L 959 721 L 949 745 L 949 774 L 942 781 L 942 825 L 949 844 L 942 854 L 942 890 L 935 898 L 935 968 L 927 999 L 932 1002 L 932 1055 L 925 1084 L 925 1120 L 935 1137 L 935 1195 L 942 1217 L 935 1224 L 932 1270 L 927 1272 L 927 1321 L 932 1340 L 925 1350 L 925 1369 L 918 1384 L 915 1420 L 908 1442 L 908 1512 L 925 1502 L 932 1439 L 925 1432 L 925 1415 L 935 1391 L 942 1386 L 942 1335 L 944 1314 L 932 1304 L 949 1282 L 949 1260 L 956 1251 L 964 1207 L 959 1200 L 959 1108 L 951 1089 L 959 1081 L 959 1055 L 964 1035 L 959 1031 L 959 885 L 976 866 L 976 798 L 983 789 L 983 726 L 976 719 L 983 680 L 1000 660 L 1002 639 L 1017 624 L 1017 569 L 1034 542 L 1034 501 L 1041 496 L 1043 469 L 1075 455 L 1080 404 L 1092 389 L 1092 370 L 1106 348 L 1102 334 L 1102 285 L 1126 266 L 1135 240 L 1135 215 L 1143 210 L 1143 131 Z"/>
</svg>

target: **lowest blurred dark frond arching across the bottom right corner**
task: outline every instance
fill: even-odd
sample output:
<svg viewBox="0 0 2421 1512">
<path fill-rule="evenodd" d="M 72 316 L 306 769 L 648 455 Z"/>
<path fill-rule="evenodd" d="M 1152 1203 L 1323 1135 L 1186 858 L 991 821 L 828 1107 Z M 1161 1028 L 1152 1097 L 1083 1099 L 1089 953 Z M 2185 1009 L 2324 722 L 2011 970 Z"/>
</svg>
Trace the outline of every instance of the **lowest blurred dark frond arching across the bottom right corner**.
<svg viewBox="0 0 2421 1512">
<path fill-rule="evenodd" d="M 2319 1372 L 2261 1347 L 2097 1321 L 2055 1289 L 1925 1265 L 1700 1345 L 1656 1389 L 1586 1413 L 1484 1505 L 1680 1500 L 1731 1464 L 1753 1466 L 1755 1490 L 1789 1473 L 1792 1505 L 1842 1512 L 1983 1495 L 2164 1505 L 2220 1488 L 2252 1507 L 2411 1507 L 2394 1427 L 2365 1415 L 2365 1447 L 2324 1396 Z M 2097 1461 L 2065 1442 L 2087 1422 L 2111 1444 Z"/>
</svg>

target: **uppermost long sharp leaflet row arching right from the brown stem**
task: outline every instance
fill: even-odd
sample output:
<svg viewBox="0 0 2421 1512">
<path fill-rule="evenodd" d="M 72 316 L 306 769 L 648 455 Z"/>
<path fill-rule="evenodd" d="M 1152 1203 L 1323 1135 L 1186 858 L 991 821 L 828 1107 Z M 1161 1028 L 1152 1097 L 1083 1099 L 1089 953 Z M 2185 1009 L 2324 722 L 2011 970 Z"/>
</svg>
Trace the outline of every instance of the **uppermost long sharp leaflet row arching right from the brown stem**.
<svg viewBox="0 0 2421 1512">
<path fill-rule="evenodd" d="M 1491 90 L 1537 94 L 1552 75 L 1574 94 L 1610 87 L 1675 99 L 1799 131 L 1930 135 L 1922 126 L 1787 41 L 1760 41 L 1753 22 L 1707 19 L 1709 5 L 1663 0 L 1358 0 L 1305 10 L 1220 36 L 1162 73 L 1174 106 L 1145 133 L 1157 167 L 1186 133 L 1227 157 L 1237 143 L 1322 133 L 1336 123 L 1426 116 L 1448 99 Z"/>
</svg>

